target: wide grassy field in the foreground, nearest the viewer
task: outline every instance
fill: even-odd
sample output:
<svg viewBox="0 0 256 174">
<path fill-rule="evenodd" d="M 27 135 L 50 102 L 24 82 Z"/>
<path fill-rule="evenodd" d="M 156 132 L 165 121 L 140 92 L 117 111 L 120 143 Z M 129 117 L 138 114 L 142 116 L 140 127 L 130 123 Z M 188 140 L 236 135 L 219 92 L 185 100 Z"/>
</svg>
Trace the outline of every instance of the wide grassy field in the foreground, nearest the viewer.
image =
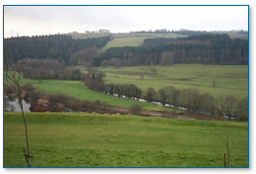
<svg viewBox="0 0 256 174">
<path fill-rule="evenodd" d="M 248 167 L 245 123 L 86 113 L 27 113 L 32 167 Z M 4 167 L 26 167 L 20 114 L 4 114 Z"/>
</svg>

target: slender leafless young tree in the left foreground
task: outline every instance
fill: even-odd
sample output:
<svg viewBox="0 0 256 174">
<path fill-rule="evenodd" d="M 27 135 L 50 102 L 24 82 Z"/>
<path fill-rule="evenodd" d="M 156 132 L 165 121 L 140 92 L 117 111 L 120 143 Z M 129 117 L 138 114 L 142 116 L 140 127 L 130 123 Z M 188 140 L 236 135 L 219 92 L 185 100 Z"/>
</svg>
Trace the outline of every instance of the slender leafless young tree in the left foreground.
<svg viewBox="0 0 256 174">
<path fill-rule="evenodd" d="M 15 48 L 15 46 L 14 46 Z M 28 134 L 28 126 L 24 113 L 23 107 L 23 87 L 22 87 L 22 78 L 23 78 L 23 66 L 18 64 L 17 61 L 11 61 L 10 57 L 4 55 L 4 79 L 8 86 L 13 87 L 15 90 L 15 94 L 18 97 L 18 104 L 21 108 L 22 117 L 25 126 L 25 135 L 26 135 L 26 147 L 23 148 L 24 155 L 28 164 L 28 167 L 32 167 L 31 163 L 31 153 L 30 153 L 30 145 L 29 145 L 29 134 Z"/>
</svg>

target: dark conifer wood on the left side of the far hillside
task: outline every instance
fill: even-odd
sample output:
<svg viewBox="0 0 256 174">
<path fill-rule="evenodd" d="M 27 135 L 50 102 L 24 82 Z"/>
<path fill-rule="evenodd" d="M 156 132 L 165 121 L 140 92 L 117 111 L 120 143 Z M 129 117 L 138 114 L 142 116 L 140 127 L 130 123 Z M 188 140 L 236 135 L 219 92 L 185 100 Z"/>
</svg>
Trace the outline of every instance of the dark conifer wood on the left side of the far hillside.
<svg viewBox="0 0 256 174">
<path fill-rule="evenodd" d="M 71 57 L 78 51 L 90 47 L 101 48 L 110 40 L 110 36 L 87 39 L 73 39 L 66 34 L 21 36 L 4 39 L 5 58 L 22 60 L 25 58 L 55 59 L 71 64 Z"/>
</svg>

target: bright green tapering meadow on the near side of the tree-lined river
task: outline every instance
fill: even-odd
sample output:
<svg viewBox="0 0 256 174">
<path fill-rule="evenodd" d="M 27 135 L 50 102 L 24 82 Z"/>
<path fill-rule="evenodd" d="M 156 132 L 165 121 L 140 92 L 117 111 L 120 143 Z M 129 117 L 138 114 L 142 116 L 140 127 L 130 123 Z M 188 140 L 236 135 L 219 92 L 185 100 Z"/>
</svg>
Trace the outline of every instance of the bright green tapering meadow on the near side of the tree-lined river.
<svg viewBox="0 0 256 174">
<path fill-rule="evenodd" d="M 148 110 L 171 111 L 176 113 L 182 112 L 181 110 L 161 107 L 149 102 L 140 102 L 132 99 L 125 99 L 108 94 L 103 94 L 84 86 L 83 82 L 79 81 L 44 80 L 39 83 L 36 80 L 24 79 L 23 83 L 32 84 L 33 87 L 36 87 L 40 91 L 46 93 L 64 93 L 66 95 L 74 96 L 79 99 L 89 101 L 99 100 L 101 102 L 106 102 L 107 104 L 115 106 L 130 107 L 134 104 L 139 104 L 142 106 L 143 109 Z"/>
</svg>

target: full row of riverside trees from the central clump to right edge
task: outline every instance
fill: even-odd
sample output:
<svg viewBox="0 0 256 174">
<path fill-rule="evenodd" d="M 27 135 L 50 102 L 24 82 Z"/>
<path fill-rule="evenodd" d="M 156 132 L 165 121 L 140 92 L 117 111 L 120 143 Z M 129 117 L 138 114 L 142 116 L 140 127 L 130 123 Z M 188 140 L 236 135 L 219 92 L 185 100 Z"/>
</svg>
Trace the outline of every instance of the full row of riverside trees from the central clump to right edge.
<svg viewBox="0 0 256 174">
<path fill-rule="evenodd" d="M 104 73 L 91 70 L 85 76 L 84 84 L 96 91 L 122 96 L 128 98 L 146 99 L 148 102 L 160 102 L 162 106 L 166 104 L 174 108 L 183 108 L 192 114 L 207 115 L 212 117 L 233 116 L 238 120 L 248 119 L 248 98 L 236 101 L 233 96 L 215 97 L 209 93 L 201 94 L 196 88 L 178 89 L 175 87 L 161 87 L 155 90 L 153 87 L 147 88 L 143 93 L 142 89 L 135 85 L 104 84 L 102 78 Z"/>
</svg>

